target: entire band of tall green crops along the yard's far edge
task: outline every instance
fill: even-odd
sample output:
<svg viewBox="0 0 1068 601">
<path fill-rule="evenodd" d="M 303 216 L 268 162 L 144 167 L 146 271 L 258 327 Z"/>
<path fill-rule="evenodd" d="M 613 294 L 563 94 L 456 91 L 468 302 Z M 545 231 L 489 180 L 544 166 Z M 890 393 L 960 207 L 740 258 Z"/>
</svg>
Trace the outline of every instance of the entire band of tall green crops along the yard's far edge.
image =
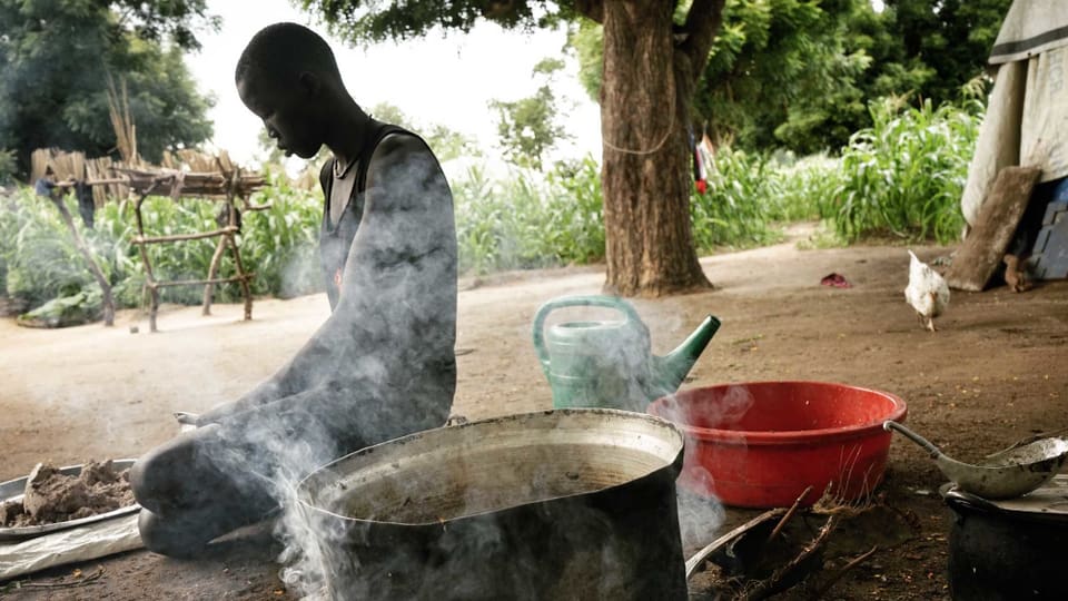
<svg viewBox="0 0 1068 601">
<path fill-rule="evenodd" d="M 959 209 L 982 107 L 968 109 L 930 101 L 911 107 L 903 99 L 874 102 L 873 127 L 859 131 L 841 158 L 795 160 L 721 148 L 709 175 L 710 188 L 691 196 L 695 245 L 701 252 L 751 247 L 781 238 L 778 224 L 823 219 L 838 239 L 872 236 L 901 239 L 955 238 L 962 226 Z M 601 167 L 585 158 L 557 162 L 547 174 L 515 168 L 491 181 L 473 168 L 452 181 L 462 273 L 595 263 L 604 259 L 605 229 Z M 323 289 L 317 236 L 322 197 L 295 190 L 283 177 L 253 199 L 269 205 L 244 215 L 239 240 L 254 293 L 293 296 Z M 73 199 L 67 198 L 77 215 Z M 150 234 L 180 234 L 215 227 L 218 203 L 150 197 L 144 207 Z M 108 203 L 97 211 L 95 229 L 82 229 L 120 306 L 142 302 L 144 267 L 127 204 Z M 828 236 L 819 246 L 838 244 Z M 215 240 L 189 240 L 149 247 L 160 278 L 200 278 Z M 221 273 L 233 273 L 224 255 Z M 77 297 L 85 304 L 95 283 L 55 207 L 28 188 L 0 200 L 0 283 L 8 294 L 40 306 L 51 298 Z M 217 289 L 219 300 L 237 300 L 236 285 Z M 165 300 L 199 303 L 201 288 L 175 287 Z"/>
</svg>

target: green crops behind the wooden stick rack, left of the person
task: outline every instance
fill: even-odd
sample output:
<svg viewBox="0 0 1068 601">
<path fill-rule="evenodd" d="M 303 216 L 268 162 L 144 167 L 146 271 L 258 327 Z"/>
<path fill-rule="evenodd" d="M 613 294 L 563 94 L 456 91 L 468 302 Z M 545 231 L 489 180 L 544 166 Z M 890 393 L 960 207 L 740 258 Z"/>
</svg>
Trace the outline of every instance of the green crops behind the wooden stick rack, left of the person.
<svg viewBox="0 0 1068 601">
<path fill-rule="evenodd" d="M 66 201 L 78 215 L 72 198 Z M 289 188 L 280 178 L 254 199 L 270 208 L 244 215 L 238 238 L 241 260 L 255 274 L 253 293 L 281 297 L 322 290 L 318 264 L 318 227 L 322 198 Z M 188 234 L 215 229 L 219 204 L 211 200 L 149 197 L 142 206 L 145 229 L 150 235 Z M 144 265 L 136 246 L 132 207 L 110 201 L 96 214 L 96 227 L 79 230 L 91 247 L 105 276 L 113 287 L 119 306 L 142 303 Z M 201 279 L 208 272 L 217 239 L 150 245 L 149 259 L 158 279 Z M 230 274 L 227 253 L 221 274 Z M 75 247 L 67 226 L 48 200 L 31 189 L 21 188 L 0 205 L 0 293 L 18 296 L 39 306 L 51 298 L 70 297 L 96 286 L 85 258 Z M 199 286 L 177 286 L 162 290 L 162 299 L 196 304 Z M 236 300 L 236 284 L 216 288 L 216 299 Z"/>
</svg>

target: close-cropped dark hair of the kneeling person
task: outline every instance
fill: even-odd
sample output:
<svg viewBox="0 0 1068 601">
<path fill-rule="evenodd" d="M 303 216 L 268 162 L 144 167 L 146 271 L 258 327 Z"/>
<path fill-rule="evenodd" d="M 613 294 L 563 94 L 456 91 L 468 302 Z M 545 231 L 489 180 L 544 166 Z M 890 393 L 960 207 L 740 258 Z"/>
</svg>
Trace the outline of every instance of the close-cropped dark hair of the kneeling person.
<svg viewBox="0 0 1068 601">
<path fill-rule="evenodd" d="M 237 60 L 234 80 L 240 81 L 250 72 L 287 79 L 305 71 L 342 80 L 334 51 L 318 33 L 297 23 L 275 23 L 249 40 Z"/>
</svg>

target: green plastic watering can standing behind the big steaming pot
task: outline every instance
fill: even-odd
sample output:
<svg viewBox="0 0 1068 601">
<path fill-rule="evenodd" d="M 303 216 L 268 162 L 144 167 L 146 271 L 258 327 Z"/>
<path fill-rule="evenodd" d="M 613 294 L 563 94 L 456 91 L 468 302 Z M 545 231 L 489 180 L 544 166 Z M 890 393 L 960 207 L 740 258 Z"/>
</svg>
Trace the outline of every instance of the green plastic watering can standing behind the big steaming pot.
<svg viewBox="0 0 1068 601">
<path fill-rule="evenodd" d="M 550 313 L 574 306 L 613 308 L 623 319 L 563 322 L 545 332 Z M 629 303 L 615 296 L 566 296 L 537 311 L 534 348 L 553 388 L 554 407 L 644 412 L 652 401 L 679 390 L 719 328 L 720 321 L 709 315 L 678 348 L 657 357 L 649 328 Z"/>
</svg>

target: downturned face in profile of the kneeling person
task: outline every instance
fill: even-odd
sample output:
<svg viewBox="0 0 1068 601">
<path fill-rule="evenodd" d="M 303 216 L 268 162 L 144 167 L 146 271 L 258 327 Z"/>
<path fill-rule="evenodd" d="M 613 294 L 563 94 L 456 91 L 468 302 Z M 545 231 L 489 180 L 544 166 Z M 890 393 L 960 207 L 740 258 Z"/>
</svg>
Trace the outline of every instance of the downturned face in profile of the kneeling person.
<svg viewBox="0 0 1068 601">
<path fill-rule="evenodd" d="M 275 78 L 249 72 L 237 82 L 241 102 L 264 121 L 267 135 L 286 156 L 312 158 L 323 146 L 314 92 L 304 81 L 284 86 Z"/>
</svg>

